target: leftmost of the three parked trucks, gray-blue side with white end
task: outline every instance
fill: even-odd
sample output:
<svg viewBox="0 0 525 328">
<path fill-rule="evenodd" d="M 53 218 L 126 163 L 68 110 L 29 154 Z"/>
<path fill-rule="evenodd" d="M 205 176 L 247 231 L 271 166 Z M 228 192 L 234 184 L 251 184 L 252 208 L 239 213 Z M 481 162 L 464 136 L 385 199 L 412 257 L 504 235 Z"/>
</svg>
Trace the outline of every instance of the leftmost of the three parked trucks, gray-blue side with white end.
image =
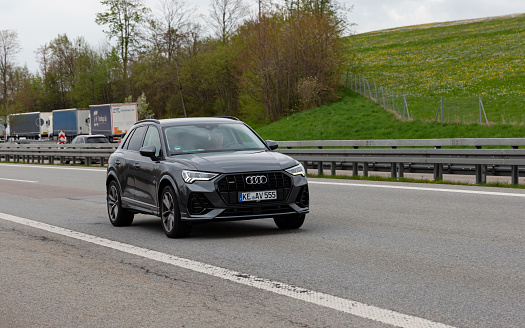
<svg viewBox="0 0 525 328">
<path fill-rule="evenodd" d="M 52 113 L 19 113 L 8 116 L 9 133 L 12 138 L 42 139 L 53 136 Z"/>
</svg>

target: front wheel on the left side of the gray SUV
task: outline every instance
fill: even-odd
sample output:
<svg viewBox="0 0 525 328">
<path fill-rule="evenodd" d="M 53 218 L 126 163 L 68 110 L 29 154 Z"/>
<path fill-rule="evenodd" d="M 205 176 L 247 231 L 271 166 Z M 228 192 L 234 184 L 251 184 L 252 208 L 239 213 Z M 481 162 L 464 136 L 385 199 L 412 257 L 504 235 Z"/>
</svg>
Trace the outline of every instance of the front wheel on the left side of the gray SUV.
<svg viewBox="0 0 525 328">
<path fill-rule="evenodd" d="M 160 197 L 160 218 L 162 229 L 169 238 L 184 238 L 191 232 L 191 225 L 182 222 L 175 192 L 171 186 L 162 190 Z"/>
</svg>

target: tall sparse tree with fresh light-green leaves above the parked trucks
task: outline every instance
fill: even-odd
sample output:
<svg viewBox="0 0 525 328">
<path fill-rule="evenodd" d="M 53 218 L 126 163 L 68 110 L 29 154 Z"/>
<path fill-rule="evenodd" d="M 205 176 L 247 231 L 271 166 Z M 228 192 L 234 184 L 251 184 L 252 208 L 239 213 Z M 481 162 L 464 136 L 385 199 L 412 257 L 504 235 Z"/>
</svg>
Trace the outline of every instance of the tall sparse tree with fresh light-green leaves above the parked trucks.
<svg viewBox="0 0 525 328">
<path fill-rule="evenodd" d="M 138 46 L 140 26 L 149 12 L 142 0 L 103 0 L 100 3 L 109 6 L 107 12 L 98 13 L 95 22 L 109 25 L 104 31 L 111 40 L 117 38 L 117 49 L 122 60 L 124 79 L 128 76 L 128 64 L 131 51 Z"/>
</svg>

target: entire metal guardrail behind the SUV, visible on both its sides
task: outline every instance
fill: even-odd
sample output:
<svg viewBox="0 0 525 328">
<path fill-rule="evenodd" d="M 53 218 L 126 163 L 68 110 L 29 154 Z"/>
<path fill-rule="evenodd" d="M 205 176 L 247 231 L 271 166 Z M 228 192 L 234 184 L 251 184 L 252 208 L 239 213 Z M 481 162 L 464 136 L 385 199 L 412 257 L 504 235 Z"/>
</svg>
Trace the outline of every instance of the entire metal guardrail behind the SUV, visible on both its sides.
<svg viewBox="0 0 525 328">
<path fill-rule="evenodd" d="M 405 171 L 431 170 L 435 179 L 447 173 L 476 175 L 476 183 L 485 183 L 488 172 L 510 175 L 518 184 L 525 176 L 525 138 L 454 138 L 454 139 L 391 139 L 391 140 L 310 140 L 279 141 L 277 151 L 317 167 L 323 174 L 329 166 L 331 174 L 337 169 L 390 171 L 391 177 L 403 177 Z M 54 164 L 95 160 L 103 166 L 117 144 L 58 145 L 56 143 L 0 144 L 0 161 L 38 162 Z M 449 147 L 449 148 L 447 148 Z M 450 148 L 452 147 L 452 148 Z M 491 149 L 483 149 L 491 147 Z M 493 149 L 497 148 L 497 149 Z"/>
</svg>

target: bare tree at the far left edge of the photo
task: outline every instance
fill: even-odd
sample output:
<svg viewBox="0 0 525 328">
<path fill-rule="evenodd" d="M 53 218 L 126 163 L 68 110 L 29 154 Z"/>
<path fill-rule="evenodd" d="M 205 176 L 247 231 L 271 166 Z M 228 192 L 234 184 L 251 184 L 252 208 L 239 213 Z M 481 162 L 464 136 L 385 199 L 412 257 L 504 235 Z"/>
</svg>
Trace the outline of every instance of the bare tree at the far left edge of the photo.
<svg viewBox="0 0 525 328">
<path fill-rule="evenodd" d="M 15 73 L 15 56 L 20 51 L 18 33 L 12 30 L 0 30 L 0 84 L 1 102 L 0 115 L 10 114 L 10 88 Z"/>
</svg>

